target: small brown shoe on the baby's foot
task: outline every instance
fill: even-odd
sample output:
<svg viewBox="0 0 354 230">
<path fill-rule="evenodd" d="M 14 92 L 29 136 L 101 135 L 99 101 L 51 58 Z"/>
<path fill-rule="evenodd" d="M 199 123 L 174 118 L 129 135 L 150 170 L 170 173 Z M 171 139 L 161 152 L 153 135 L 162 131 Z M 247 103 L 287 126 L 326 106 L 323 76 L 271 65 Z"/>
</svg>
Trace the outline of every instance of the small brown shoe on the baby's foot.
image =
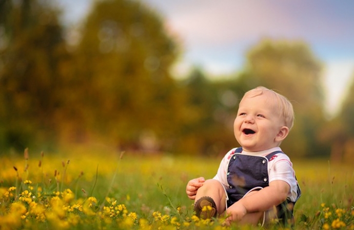
<svg viewBox="0 0 354 230">
<path fill-rule="evenodd" d="M 217 204 L 208 196 L 203 196 L 195 202 L 194 211 L 195 215 L 201 219 L 211 219 L 217 217 L 218 214 Z"/>
</svg>

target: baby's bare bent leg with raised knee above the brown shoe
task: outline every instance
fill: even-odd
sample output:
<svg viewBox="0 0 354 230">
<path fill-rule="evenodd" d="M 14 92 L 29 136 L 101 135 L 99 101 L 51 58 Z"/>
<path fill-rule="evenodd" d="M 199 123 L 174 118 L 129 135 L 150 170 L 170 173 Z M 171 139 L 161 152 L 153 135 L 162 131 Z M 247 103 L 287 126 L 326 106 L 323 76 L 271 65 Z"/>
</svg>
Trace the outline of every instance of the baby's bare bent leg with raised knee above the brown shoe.
<svg viewBox="0 0 354 230">
<path fill-rule="evenodd" d="M 218 180 L 209 179 L 204 182 L 204 185 L 198 189 L 195 195 L 195 202 L 202 197 L 210 197 L 217 205 L 219 214 L 223 213 L 226 209 L 226 194 L 225 189 Z"/>
</svg>

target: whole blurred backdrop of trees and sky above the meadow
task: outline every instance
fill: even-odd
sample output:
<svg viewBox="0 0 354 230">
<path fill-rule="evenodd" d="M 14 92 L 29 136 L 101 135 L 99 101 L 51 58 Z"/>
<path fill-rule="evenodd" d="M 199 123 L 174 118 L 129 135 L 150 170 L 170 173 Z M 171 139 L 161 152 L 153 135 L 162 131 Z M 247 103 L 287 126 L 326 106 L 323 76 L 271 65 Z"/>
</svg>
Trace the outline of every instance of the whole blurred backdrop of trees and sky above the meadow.
<svg viewBox="0 0 354 230">
<path fill-rule="evenodd" d="M 1 0 L 0 154 L 237 147 L 239 100 L 293 103 L 290 157 L 354 159 L 354 2 Z"/>
</svg>

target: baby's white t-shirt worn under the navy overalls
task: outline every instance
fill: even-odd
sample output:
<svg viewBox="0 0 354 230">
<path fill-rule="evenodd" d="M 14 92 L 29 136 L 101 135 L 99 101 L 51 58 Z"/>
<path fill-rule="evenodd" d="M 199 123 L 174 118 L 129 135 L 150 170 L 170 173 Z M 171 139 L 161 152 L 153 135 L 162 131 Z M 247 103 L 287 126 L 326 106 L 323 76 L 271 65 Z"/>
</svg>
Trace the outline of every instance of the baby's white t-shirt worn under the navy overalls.
<svg viewBox="0 0 354 230">
<path fill-rule="evenodd" d="M 242 151 L 239 154 L 265 157 L 266 155 L 274 151 L 282 151 L 282 150 L 280 147 L 275 147 L 275 148 L 271 148 L 259 152 Z M 226 153 L 224 158 L 221 160 L 217 175 L 213 177 L 213 179 L 219 180 L 226 189 L 229 188 L 229 184 L 227 182 L 227 169 L 229 166 L 231 156 L 234 153 L 235 153 L 235 149 L 231 149 Z M 268 177 L 269 177 L 268 178 L 269 183 L 273 180 L 283 180 L 287 182 L 290 186 L 288 199 L 292 202 L 297 200 L 298 181 L 295 178 L 295 172 L 292 168 L 292 163 L 290 162 L 290 158 L 286 154 L 277 153 L 270 158 L 270 160 L 268 161 Z"/>
</svg>

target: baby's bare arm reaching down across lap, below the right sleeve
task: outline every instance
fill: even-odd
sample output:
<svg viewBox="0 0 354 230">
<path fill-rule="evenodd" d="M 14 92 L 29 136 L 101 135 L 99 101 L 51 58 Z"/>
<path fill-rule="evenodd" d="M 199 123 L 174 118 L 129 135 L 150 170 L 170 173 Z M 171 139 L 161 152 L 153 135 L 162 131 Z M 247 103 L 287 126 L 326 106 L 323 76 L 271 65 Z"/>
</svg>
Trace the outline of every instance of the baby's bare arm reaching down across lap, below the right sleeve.
<svg viewBox="0 0 354 230">
<path fill-rule="evenodd" d="M 283 180 L 274 180 L 268 187 L 246 195 L 227 209 L 226 223 L 240 221 L 246 214 L 264 212 L 284 202 L 290 186 Z"/>
</svg>

